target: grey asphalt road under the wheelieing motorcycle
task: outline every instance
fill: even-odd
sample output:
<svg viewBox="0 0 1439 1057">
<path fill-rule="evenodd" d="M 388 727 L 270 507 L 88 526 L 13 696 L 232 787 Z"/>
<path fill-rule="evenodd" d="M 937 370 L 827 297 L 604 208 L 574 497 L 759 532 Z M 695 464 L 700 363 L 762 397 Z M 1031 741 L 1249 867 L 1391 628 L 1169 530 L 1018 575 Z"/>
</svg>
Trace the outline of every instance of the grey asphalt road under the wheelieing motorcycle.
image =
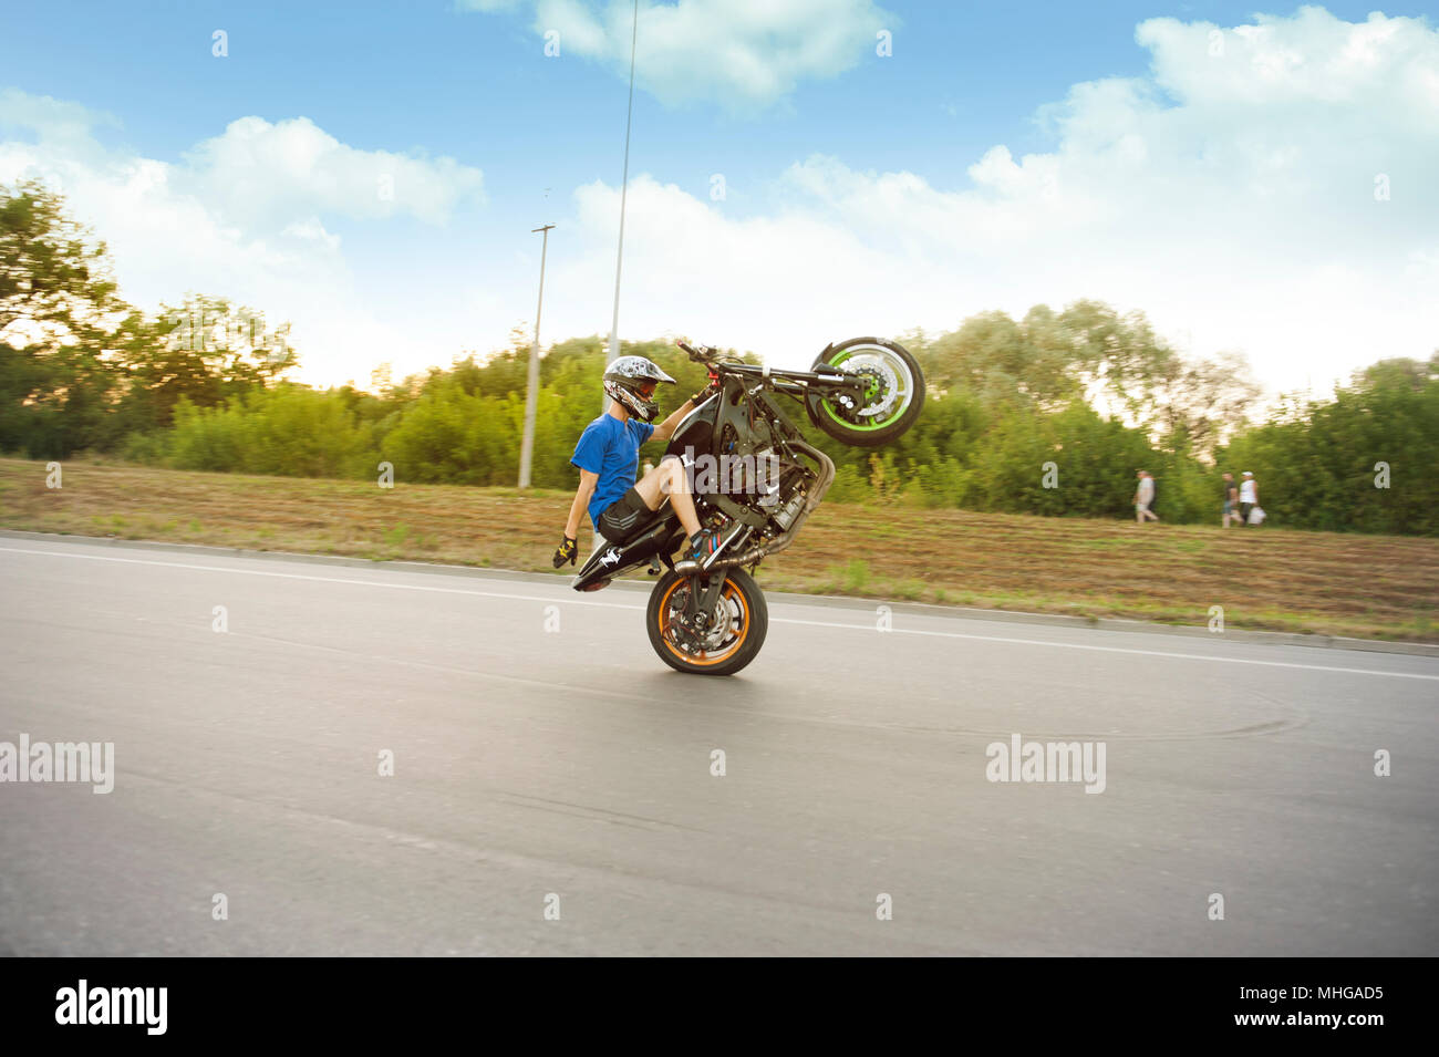
<svg viewBox="0 0 1439 1057">
<path fill-rule="evenodd" d="M 0 600 L 0 742 L 115 746 L 0 784 L 0 953 L 1439 953 L 1433 657 L 771 598 L 701 679 L 617 587 L 14 538 Z"/>
</svg>

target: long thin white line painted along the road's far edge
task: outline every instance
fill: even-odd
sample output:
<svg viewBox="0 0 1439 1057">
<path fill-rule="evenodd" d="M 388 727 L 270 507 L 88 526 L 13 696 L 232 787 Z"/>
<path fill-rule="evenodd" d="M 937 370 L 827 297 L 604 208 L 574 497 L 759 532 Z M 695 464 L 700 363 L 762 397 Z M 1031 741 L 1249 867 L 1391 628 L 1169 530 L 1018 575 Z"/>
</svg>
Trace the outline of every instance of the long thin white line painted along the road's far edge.
<svg viewBox="0 0 1439 1057">
<path fill-rule="evenodd" d="M 245 569 L 235 568 L 230 565 L 197 565 L 193 562 L 178 562 L 178 561 L 154 561 L 150 558 L 117 558 L 108 554 L 72 554 L 66 551 L 37 551 L 23 546 L 0 546 L 0 552 L 4 554 L 36 554 L 47 558 L 86 558 L 89 561 L 114 561 L 127 565 L 160 565 L 163 568 L 173 569 L 197 569 L 201 572 L 237 572 L 245 577 L 276 577 L 279 580 L 309 580 L 319 584 L 357 584 L 360 587 L 383 587 L 397 591 L 433 591 L 436 594 L 468 594 L 481 598 L 511 598 L 514 601 L 524 603 L 555 603 L 558 601 L 554 595 L 534 595 L 534 594 L 505 594 L 502 591 L 473 591 L 459 587 L 433 587 L 430 584 L 386 584 L 376 580 L 351 580 L 347 577 L 315 577 L 307 575 L 304 572 L 273 572 L 271 569 Z M 419 574 L 426 575 L 426 574 Z M 567 598 L 564 600 L 568 605 L 597 605 L 610 610 L 643 610 L 643 605 L 626 605 L 623 603 L 602 603 L 586 598 Z M 773 624 L 809 624 L 812 627 L 837 627 L 846 628 L 849 631 L 875 631 L 872 624 L 842 624 L 839 621 L 829 620 L 799 620 L 796 617 L 771 617 Z M 1361 669 L 1361 667 L 1333 667 L 1328 664 L 1297 664 L 1294 662 L 1285 660 L 1250 660 L 1242 657 L 1216 657 L 1215 654 L 1204 653 L 1174 653 L 1173 650 L 1134 650 L 1125 649 L 1122 646 L 1094 646 L 1089 643 L 1056 643 L 1046 639 L 1010 639 L 1003 636 L 977 636 L 964 634 L 963 631 L 924 631 L 912 627 L 892 627 L 888 634 L 911 634 L 911 636 L 931 636 L 935 639 L 971 639 L 981 643 L 1009 643 L 1016 646 L 1048 646 L 1062 650 L 1094 650 L 1098 653 L 1132 653 L 1141 657 L 1174 657 L 1179 660 L 1203 660 L 1210 663 L 1223 664 L 1259 664 L 1263 667 L 1292 667 L 1301 669 L 1304 672 L 1337 672 L 1344 674 L 1356 676 L 1387 676 L 1390 679 L 1427 679 L 1439 682 L 1439 674 L 1420 674 L 1417 672 L 1383 672 L 1380 669 Z"/>
</svg>

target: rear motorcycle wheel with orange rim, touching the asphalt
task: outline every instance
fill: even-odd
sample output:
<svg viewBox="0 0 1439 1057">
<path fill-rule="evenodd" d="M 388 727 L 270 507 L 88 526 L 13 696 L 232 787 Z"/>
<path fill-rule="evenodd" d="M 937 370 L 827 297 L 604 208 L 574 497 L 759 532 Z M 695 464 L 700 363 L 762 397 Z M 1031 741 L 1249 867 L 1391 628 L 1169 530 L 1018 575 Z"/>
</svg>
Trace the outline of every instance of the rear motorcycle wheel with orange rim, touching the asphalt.
<svg viewBox="0 0 1439 1057">
<path fill-rule="evenodd" d="M 649 594 L 645 614 L 649 644 L 676 672 L 732 676 L 754 660 L 764 646 L 770 611 L 754 577 L 738 568 L 712 575 L 722 575 L 724 587 L 720 588 L 720 601 L 712 613 L 705 614 L 702 626 L 685 618 L 694 582 L 689 577 L 666 572 Z"/>
</svg>

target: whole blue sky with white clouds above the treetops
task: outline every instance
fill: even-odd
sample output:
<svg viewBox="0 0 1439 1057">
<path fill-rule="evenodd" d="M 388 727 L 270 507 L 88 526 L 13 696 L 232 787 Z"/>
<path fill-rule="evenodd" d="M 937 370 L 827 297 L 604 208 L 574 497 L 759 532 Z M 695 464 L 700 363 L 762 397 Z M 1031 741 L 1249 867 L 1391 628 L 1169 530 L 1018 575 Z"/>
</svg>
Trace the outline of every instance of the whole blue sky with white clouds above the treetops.
<svg viewBox="0 0 1439 1057">
<path fill-rule="evenodd" d="M 797 362 L 846 328 L 1088 295 L 1276 388 L 1439 345 L 1422 4 L 1274 7 L 1266 30 L 1250 4 L 640 7 L 626 338 Z M 548 220 L 545 339 L 607 331 L 627 3 L 47 3 L 6 24 L 0 180 L 53 177 L 138 303 L 249 299 L 294 319 L 302 377 L 366 383 L 530 325 Z M 1301 308 L 1341 290 L 1368 308 Z"/>
</svg>

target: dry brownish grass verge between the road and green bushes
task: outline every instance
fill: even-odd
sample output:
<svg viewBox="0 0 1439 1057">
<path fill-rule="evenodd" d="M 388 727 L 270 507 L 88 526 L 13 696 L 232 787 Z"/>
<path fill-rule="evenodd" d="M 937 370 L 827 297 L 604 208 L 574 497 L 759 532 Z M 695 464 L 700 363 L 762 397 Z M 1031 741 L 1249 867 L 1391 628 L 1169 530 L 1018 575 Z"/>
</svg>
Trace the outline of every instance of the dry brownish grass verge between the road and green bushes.
<svg viewBox="0 0 1439 1057">
<path fill-rule="evenodd" d="M 66 463 L 62 489 L 45 477 L 0 459 L 0 528 L 551 572 L 571 499 L 109 462 Z M 1439 641 L 1435 539 L 826 505 L 760 580 L 1193 626 L 1223 605 L 1227 627 Z"/>
</svg>

